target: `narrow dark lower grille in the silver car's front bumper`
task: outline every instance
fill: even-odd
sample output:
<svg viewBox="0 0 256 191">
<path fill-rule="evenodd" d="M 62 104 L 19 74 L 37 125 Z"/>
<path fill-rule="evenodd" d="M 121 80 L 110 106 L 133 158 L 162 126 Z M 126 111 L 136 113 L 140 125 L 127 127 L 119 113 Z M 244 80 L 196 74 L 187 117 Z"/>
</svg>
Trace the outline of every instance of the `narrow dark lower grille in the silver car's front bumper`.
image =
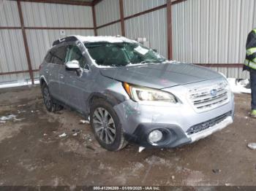
<svg viewBox="0 0 256 191">
<path fill-rule="evenodd" d="M 206 122 L 201 122 L 197 125 L 192 126 L 191 128 L 189 128 L 186 133 L 188 136 L 194 134 L 194 133 L 198 133 L 202 130 L 206 130 L 207 128 L 210 128 L 214 125 L 217 125 L 219 122 L 222 122 L 223 120 L 225 120 L 228 116 L 231 116 L 232 112 L 227 112 L 225 114 L 220 115 L 219 117 L 215 117 L 214 119 L 208 120 Z"/>
</svg>

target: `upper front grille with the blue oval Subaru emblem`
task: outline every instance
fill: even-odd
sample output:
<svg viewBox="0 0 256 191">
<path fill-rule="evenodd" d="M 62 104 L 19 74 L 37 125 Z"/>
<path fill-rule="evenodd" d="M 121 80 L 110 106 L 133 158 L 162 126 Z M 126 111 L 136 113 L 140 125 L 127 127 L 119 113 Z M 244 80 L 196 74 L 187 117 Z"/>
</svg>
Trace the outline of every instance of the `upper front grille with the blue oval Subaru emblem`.
<svg viewBox="0 0 256 191">
<path fill-rule="evenodd" d="M 227 82 L 219 82 L 215 85 L 195 87 L 189 90 L 189 100 L 196 112 L 206 112 L 227 104 Z"/>
</svg>

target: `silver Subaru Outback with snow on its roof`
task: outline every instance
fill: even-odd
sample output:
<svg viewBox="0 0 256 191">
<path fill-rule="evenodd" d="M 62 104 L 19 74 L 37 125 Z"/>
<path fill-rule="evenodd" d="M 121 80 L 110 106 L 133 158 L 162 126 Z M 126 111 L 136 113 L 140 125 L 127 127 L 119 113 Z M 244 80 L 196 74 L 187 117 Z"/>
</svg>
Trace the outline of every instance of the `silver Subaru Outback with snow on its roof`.
<svg viewBox="0 0 256 191">
<path fill-rule="evenodd" d="M 68 106 L 90 120 L 99 144 L 116 151 L 178 147 L 233 122 L 227 79 L 211 69 L 167 61 L 121 36 L 67 36 L 39 67 L 49 112 Z"/>
</svg>

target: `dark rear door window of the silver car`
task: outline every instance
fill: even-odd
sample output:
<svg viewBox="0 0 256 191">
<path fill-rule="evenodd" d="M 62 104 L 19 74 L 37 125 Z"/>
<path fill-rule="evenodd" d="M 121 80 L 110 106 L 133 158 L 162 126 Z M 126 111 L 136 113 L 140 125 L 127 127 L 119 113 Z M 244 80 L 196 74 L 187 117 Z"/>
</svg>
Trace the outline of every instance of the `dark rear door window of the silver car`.
<svg viewBox="0 0 256 191">
<path fill-rule="evenodd" d="M 67 47 L 66 46 L 57 47 L 53 50 L 50 50 L 49 54 L 51 55 L 50 63 L 64 64 L 66 54 L 67 54 Z"/>
</svg>

